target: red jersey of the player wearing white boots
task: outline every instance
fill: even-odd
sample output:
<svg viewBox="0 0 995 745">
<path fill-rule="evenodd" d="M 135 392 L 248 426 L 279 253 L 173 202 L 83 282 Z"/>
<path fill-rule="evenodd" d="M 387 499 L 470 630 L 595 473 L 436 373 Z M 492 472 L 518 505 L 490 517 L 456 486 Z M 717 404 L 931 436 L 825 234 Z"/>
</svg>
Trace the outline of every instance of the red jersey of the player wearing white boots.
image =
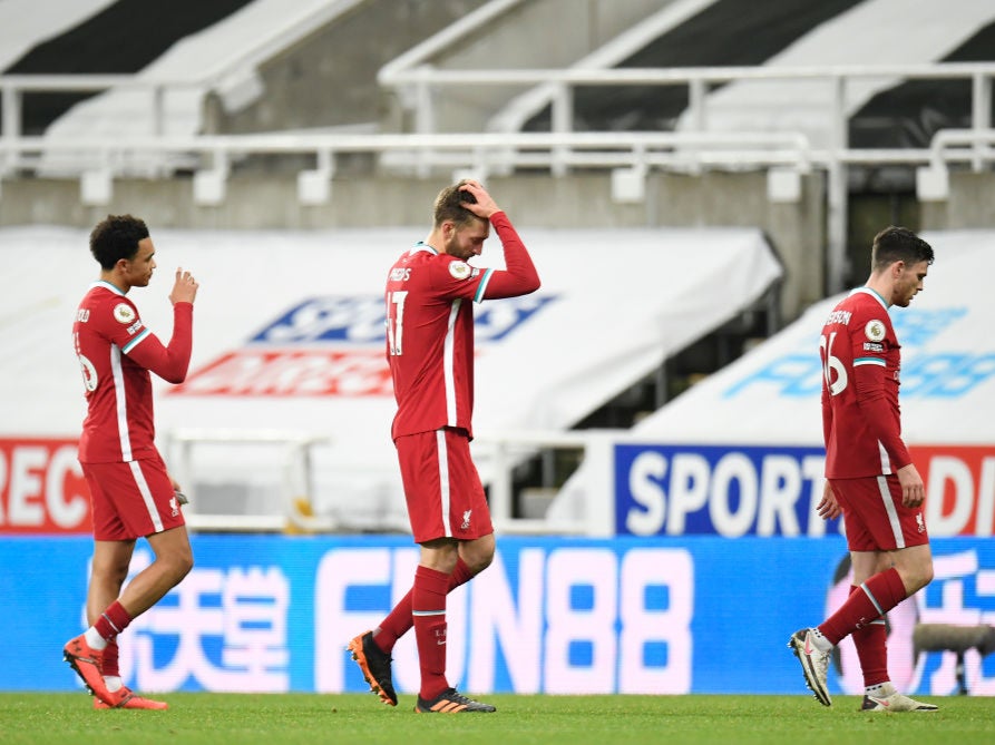
<svg viewBox="0 0 995 745">
<path fill-rule="evenodd" d="M 888 306 L 858 287 L 829 314 L 819 340 L 826 477 L 894 473 L 911 458 L 901 441 L 901 354 Z"/>
</svg>

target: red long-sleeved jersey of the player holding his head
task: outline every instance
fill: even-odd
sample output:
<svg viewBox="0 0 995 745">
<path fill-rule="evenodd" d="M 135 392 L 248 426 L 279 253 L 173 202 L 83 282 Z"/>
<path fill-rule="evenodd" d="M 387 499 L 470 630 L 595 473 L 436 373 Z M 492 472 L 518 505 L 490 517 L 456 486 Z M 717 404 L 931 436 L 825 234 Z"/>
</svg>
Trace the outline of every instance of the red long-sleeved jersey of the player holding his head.
<svg viewBox="0 0 995 745">
<path fill-rule="evenodd" d="M 539 286 L 504 213 L 490 218 L 507 271 L 481 269 L 419 242 L 388 273 L 387 359 L 398 412 L 391 437 L 457 427 L 472 438 L 474 302 Z"/>
</svg>

